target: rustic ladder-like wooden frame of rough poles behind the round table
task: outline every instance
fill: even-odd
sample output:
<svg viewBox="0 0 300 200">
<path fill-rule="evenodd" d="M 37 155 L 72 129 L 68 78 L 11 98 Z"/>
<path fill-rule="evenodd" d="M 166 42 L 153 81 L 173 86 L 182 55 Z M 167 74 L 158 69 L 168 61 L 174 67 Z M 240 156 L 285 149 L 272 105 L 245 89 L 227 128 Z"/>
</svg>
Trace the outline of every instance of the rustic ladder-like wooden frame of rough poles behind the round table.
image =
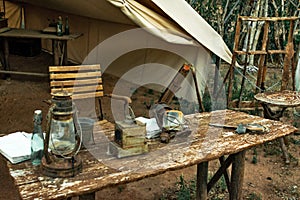
<svg viewBox="0 0 300 200">
<path fill-rule="evenodd" d="M 246 55 L 247 57 L 250 55 L 259 55 L 259 63 L 258 63 L 258 73 L 257 73 L 257 80 L 256 80 L 256 91 L 258 93 L 265 89 L 265 79 L 267 74 L 267 65 L 266 65 L 266 57 L 267 55 L 271 54 L 284 54 L 284 62 L 283 62 L 283 73 L 282 73 L 282 84 L 281 90 L 286 90 L 288 87 L 289 79 L 292 78 L 293 89 L 294 89 L 294 73 L 295 73 L 295 66 L 293 65 L 293 57 L 295 54 L 294 51 L 294 44 L 293 44 L 293 33 L 294 33 L 294 24 L 295 21 L 298 20 L 299 17 L 247 17 L 247 16 L 238 16 L 237 24 L 236 24 L 236 31 L 235 31 L 235 39 L 234 39 L 234 47 L 233 47 L 233 55 L 232 55 L 232 62 L 230 68 L 224 78 L 223 86 L 226 80 L 229 78 L 228 84 L 228 98 L 227 98 L 227 106 L 228 107 L 235 107 L 232 103 L 232 91 L 233 91 L 233 80 L 234 80 L 234 68 L 237 65 L 237 57 L 240 55 Z M 246 50 L 239 50 L 239 40 L 241 35 L 241 27 L 243 21 L 248 21 L 250 23 L 264 21 L 263 27 L 263 39 L 262 39 L 262 47 L 260 50 L 251 51 L 249 48 Z M 268 41 L 269 41 L 269 29 L 271 22 L 277 21 L 289 21 L 290 28 L 288 33 L 287 44 L 285 49 L 268 49 Z M 245 82 L 245 75 L 246 75 L 246 66 L 247 62 L 245 62 L 245 66 L 243 69 L 243 79 L 241 83 L 241 90 L 239 99 L 237 102 L 237 107 L 240 107 L 241 102 L 241 95 L 243 91 L 243 86 Z M 290 77 L 290 68 L 292 68 L 292 77 Z M 260 88 L 260 90 L 258 89 Z"/>
</svg>

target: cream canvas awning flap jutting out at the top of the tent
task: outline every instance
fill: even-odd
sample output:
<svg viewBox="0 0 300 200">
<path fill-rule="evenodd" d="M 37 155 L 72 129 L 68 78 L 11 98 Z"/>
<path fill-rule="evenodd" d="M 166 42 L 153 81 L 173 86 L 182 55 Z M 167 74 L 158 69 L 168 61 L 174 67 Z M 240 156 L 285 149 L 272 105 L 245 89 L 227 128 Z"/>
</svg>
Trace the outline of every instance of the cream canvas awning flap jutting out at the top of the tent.
<svg viewBox="0 0 300 200">
<path fill-rule="evenodd" d="M 150 28 L 153 34 L 168 42 L 179 44 L 200 44 L 231 63 L 231 52 L 221 36 L 184 0 L 148 0 L 150 8 L 134 0 L 108 0 L 119 7 L 132 21 L 141 27 Z M 151 5 L 152 3 L 152 5 Z M 169 18 L 155 12 L 158 6 Z M 166 34 L 170 33 L 170 34 Z"/>
</svg>

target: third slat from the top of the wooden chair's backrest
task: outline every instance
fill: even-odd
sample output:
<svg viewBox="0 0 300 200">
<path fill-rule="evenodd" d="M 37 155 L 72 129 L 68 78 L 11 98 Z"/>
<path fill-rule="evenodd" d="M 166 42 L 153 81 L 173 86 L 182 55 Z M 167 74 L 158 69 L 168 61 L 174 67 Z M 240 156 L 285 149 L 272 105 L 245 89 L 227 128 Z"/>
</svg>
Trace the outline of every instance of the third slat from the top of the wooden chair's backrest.
<svg viewBox="0 0 300 200">
<path fill-rule="evenodd" d="M 50 87 L 67 87 L 73 85 L 101 85 L 102 78 L 93 78 L 93 79 L 76 79 L 76 80 L 53 80 L 50 82 Z"/>
</svg>

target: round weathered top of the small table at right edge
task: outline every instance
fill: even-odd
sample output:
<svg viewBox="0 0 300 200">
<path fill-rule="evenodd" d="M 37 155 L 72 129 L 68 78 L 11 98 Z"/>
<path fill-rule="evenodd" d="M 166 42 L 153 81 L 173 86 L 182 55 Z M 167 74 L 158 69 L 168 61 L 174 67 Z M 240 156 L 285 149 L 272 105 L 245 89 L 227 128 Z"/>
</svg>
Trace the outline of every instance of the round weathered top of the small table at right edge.
<svg viewBox="0 0 300 200">
<path fill-rule="evenodd" d="M 266 104 L 280 107 L 297 107 L 300 106 L 300 92 L 297 91 L 279 91 L 258 93 L 255 99 Z"/>
</svg>

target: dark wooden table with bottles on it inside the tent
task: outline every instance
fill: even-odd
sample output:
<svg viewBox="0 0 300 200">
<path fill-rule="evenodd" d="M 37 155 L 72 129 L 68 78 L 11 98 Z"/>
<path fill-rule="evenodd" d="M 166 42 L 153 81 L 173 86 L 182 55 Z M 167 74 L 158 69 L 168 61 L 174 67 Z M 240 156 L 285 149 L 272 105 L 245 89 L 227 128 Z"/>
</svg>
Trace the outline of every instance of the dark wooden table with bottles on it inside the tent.
<svg viewBox="0 0 300 200">
<path fill-rule="evenodd" d="M 3 39 L 3 59 L 1 59 L 4 70 L 0 70 L 0 73 L 5 74 L 21 74 L 21 75 L 36 75 L 36 76 L 48 76 L 48 74 L 30 73 L 30 72 L 16 72 L 11 71 L 9 66 L 9 45 L 8 38 L 38 38 L 38 39 L 50 39 L 52 40 L 52 53 L 53 64 L 56 66 L 67 65 L 67 42 L 69 40 L 75 40 L 82 36 L 81 33 L 72 33 L 70 35 L 57 36 L 55 33 L 44 33 L 41 30 L 29 30 L 29 29 L 5 29 L 0 33 L 0 38 Z"/>
</svg>

